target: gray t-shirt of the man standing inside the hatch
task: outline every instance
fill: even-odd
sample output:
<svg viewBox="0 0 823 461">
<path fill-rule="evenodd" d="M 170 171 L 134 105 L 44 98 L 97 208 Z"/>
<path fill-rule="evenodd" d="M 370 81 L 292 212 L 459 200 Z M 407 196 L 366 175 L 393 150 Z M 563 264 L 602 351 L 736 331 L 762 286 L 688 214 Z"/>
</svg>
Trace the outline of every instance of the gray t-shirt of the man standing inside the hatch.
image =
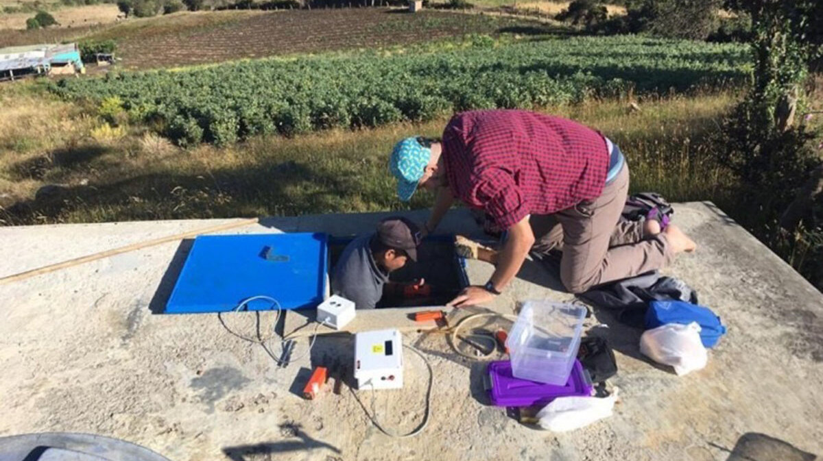
<svg viewBox="0 0 823 461">
<path fill-rule="evenodd" d="M 343 250 L 332 270 L 332 294 L 355 302 L 356 309 L 374 309 L 388 274 L 374 262 L 369 243 L 374 233 L 357 237 Z"/>
</svg>

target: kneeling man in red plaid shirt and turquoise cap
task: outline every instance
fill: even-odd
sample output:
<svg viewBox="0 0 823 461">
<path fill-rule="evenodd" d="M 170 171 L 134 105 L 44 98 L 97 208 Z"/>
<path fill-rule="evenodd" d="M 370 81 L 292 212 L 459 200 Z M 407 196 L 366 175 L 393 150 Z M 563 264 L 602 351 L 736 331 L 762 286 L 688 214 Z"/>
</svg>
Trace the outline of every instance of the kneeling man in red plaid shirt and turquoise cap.
<svg viewBox="0 0 823 461">
<path fill-rule="evenodd" d="M 560 279 L 572 293 L 655 270 L 695 242 L 677 226 L 622 221 L 629 168 L 620 149 L 591 128 L 523 110 L 458 113 L 443 140 L 407 138 L 389 167 L 398 195 L 419 186 L 436 191 L 425 233 L 455 200 L 483 210 L 506 231 L 490 258 L 497 268 L 483 286 L 450 305 L 490 301 L 517 275 L 529 251 L 561 249 Z"/>
</svg>

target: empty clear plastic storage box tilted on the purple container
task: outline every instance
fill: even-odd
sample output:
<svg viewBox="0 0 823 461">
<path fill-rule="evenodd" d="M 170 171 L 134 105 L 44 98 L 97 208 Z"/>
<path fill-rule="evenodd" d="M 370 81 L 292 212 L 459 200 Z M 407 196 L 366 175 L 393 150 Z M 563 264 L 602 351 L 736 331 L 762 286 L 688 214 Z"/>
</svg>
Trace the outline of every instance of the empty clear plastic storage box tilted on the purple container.
<svg viewBox="0 0 823 461">
<path fill-rule="evenodd" d="M 586 308 L 548 301 L 523 303 L 506 346 L 516 378 L 565 385 L 580 348 Z"/>
</svg>

